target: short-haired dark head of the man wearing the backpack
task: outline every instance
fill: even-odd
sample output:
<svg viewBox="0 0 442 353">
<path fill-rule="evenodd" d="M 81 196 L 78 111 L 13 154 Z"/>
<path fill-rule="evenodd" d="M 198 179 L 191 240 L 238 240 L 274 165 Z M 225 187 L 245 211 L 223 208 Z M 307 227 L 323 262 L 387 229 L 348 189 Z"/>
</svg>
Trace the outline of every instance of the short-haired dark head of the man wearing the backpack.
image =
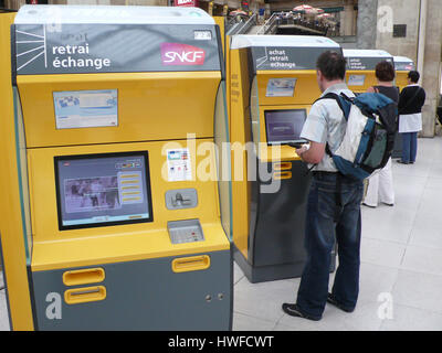
<svg viewBox="0 0 442 353">
<path fill-rule="evenodd" d="M 319 55 L 316 69 L 320 92 L 326 90 L 333 84 L 344 82 L 346 64 L 345 57 L 339 53 L 327 51 Z"/>
</svg>

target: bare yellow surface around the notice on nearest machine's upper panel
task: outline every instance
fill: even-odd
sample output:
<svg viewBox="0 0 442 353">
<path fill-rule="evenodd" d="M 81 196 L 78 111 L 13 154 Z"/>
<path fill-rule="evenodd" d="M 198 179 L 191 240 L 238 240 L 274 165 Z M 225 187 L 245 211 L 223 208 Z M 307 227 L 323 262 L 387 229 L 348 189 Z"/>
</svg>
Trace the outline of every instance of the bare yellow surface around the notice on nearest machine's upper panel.
<svg viewBox="0 0 442 353">
<path fill-rule="evenodd" d="M 27 145 L 34 148 L 186 139 L 188 131 L 197 138 L 213 136 L 213 117 L 200 117 L 213 108 L 215 95 L 211 93 L 218 89 L 220 79 L 220 72 L 19 76 Z M 90 129 L 56 128 L 53 93 L 85 88 L 117 90 L 120 104 L 116 127 L 95 128 L 93 133 Z M 188 130 L 181 128 L 183 119 Z"/>
</svg>

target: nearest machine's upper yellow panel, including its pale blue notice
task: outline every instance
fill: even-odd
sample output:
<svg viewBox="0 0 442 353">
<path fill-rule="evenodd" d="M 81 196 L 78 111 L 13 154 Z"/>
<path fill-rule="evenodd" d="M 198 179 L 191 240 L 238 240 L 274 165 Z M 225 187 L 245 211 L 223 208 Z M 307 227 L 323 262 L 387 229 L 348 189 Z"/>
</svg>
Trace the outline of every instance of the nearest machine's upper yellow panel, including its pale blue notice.
<svg viewBox="0 0 442 353">
<path fill-rule="evenodd" d="M 220 72 L 19 76 L 27 147 L 213 137 L 220 81 Z"/>
</svg>

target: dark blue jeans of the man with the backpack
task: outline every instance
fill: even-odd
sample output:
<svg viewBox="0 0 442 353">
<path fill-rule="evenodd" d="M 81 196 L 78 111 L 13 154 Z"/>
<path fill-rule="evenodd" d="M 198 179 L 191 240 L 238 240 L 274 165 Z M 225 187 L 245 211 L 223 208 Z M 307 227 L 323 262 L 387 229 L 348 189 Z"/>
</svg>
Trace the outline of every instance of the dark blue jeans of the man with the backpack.
<svg viewBox="0 0 442 353">
<path fill-rule="evenodd" d="M 341 207 L 336 205 L 337 173 L 314 174 L 307 202 L 305 247 L 307 261 L 297 292 L 299 309 L 320 318 L 327 301 L 332 250 L 338 246 L 339 266 L 332 293 L 348 309 L 356 306 L 359 293 L 360 203 L 364 183 L 341 180 Z M 336 210 L 338 207 L 338 216 Z"/>
</svg>

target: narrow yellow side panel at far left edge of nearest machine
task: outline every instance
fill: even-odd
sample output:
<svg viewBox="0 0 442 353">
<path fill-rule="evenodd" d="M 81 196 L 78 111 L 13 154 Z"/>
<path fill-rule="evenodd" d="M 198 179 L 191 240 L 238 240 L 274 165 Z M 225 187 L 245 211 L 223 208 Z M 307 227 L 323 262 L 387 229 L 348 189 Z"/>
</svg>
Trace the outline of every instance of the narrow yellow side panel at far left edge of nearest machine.
<svg viewBox="0 0 442 353">
<path fill-rule="evenodd" d="M 15 13 L 0 13 L 0 236 L 11 330 L 33 330 L 27 274 L 27 238 L 20 204 L 19 170 L 15 162 L 14 105 L 11 87 L 10 26 Z"/>
</svg>

